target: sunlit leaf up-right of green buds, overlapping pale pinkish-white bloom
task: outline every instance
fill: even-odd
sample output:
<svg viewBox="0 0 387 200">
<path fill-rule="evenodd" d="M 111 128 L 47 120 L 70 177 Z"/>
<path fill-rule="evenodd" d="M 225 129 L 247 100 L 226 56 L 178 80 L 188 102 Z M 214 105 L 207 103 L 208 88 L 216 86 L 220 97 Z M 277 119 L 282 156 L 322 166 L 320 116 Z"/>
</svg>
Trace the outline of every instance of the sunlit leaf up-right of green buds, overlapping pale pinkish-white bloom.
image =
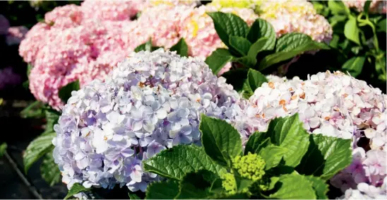
<svg viewBox="0 0 387 200">
<path fill-rule="evenodd" d="M 266 132 L 273 144 L 287 148 L 287 152 L 283 155 L 285 165 L 295 167 L 301 162 L 308 151 L 309 134 L 303 128 L 298 114 L 273 119 Z"/>
</svg>

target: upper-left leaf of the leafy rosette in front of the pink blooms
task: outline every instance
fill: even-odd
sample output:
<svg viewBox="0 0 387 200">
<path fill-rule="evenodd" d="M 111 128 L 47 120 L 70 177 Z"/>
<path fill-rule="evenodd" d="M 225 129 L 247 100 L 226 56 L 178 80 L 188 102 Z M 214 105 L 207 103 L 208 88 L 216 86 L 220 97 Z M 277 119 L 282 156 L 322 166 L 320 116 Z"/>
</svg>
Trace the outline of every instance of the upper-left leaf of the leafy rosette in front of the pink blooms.
<svg viewBox="0 0 387 200">
<path fill-rule="evenodd" d="M 227 47 L 230 47 L 230 36 L 246 37 L 249 26 L 242 18 L 232 13 L 207 13 L 213 19 L 216 33 Z"/>
</svg>

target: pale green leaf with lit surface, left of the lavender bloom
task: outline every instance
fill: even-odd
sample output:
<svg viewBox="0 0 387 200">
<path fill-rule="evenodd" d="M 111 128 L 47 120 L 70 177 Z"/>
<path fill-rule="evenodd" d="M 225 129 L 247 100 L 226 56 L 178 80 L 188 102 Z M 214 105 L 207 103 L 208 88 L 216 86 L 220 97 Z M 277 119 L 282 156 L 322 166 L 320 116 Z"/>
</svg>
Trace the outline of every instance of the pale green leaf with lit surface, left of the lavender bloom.
<svg viewBox="0 0 387 200">
<path fill-rule="evenodd" d="M 23 164 L 25 173 L 30 166 L 41 158 L 44 154 L 52 151 L 52 139 L 56 136 L 55 132 L 44 133 L 33 140 L 25 150 L 23 155 Z"/>
</svg>

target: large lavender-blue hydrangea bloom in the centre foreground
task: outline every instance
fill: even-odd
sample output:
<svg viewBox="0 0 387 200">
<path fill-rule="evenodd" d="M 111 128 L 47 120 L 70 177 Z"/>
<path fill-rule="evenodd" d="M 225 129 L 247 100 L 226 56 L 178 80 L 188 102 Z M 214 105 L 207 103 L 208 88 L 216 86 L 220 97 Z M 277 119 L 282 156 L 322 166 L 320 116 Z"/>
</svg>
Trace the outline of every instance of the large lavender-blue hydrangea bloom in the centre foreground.
<svg viewBox="0 0 387 200">
<path fill-rule="evenodd" d="M 201 113 L 229 119 L 239 96 L 199 59 L 138 52 L 105 82 L 73 91 L 54 126 L 54 160 L 69 188 L 126 185 L 145 191 L 159 180 L 141 160 L 177 144 L 200 144 Z M 230 120 L 229 120 L 230 121 Z"/>
</svg>

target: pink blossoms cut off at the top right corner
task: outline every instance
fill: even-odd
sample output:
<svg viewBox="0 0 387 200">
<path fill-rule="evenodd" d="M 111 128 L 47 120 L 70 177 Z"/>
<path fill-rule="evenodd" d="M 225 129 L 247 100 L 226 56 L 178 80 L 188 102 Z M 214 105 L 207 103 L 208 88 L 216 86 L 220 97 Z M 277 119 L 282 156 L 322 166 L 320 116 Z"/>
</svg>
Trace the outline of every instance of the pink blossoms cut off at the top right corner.
<svg viewBox="0 0 387 200">
<path fill-rule="evenodd" d="M 364 10 L 364 4 L 366 3 L 366 0 L 343 1 L 343 3 L 345 4 L 345 6 L 349 8 L 355 8 L 357 11 L 362 12 Z M 369 12 L 386 14 L 387 13 L 386 1 L 372 0 L 371 5 L 369 6 Z"/>
</svg>

